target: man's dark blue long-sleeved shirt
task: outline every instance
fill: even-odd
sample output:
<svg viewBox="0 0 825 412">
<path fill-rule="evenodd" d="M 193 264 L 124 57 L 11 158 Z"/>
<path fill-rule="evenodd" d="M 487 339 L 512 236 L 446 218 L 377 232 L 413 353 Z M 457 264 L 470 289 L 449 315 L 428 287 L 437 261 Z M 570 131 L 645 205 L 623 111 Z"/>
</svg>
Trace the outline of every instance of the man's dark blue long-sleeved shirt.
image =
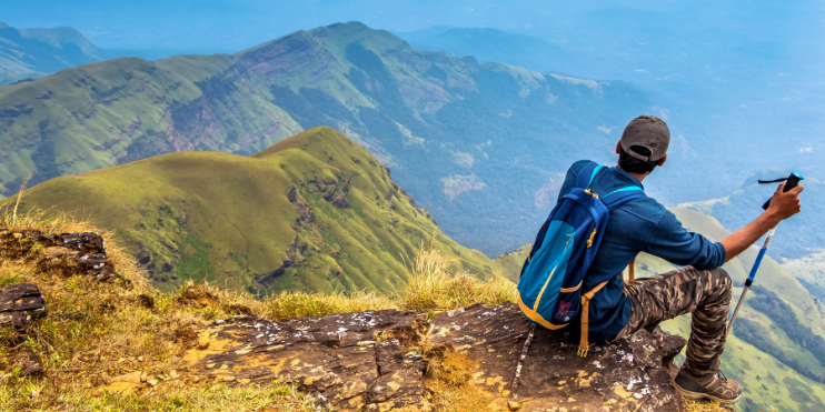
<svg viewBox="0 0 825 412">
<path fill-rule="evenodd" d="M 559 199 L 576 182 L 578 173 L 594 162 L 573 163 L 561 185 Z M 590 190 L 605 194 L 642 182 L 617 167 L 604 168 L 590 183 Z M 715 269 L 725 263 L 725 247 L 702 234 L 688 232 L 670 211 L 653 198 L 638 199 L 610 211 L 602 244 L 587 271 L 582 292 L 608 281 L 590 301 L 590 340 L 618 334 L 630 319 L 630 303 L 624 294 L 622 271 L 639 253 L 647 252 L 679 267 Z M 577 324 L 577 322 L 574 322 Z"/>
</svg>

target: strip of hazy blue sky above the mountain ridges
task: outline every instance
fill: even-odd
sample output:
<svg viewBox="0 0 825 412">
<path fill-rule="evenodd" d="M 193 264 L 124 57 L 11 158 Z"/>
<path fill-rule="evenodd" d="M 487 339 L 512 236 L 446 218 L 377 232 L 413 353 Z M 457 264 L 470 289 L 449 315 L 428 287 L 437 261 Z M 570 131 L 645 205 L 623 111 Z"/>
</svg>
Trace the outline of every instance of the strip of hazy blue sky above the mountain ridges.
<svg viewBox="0 0 825 412">
<path fill-rule="evenodd" d="M 584 3 L 584 4 L 583 4 Z M 102 48 L 241 50 L 286 33 L 359 20 L 391 31 L 430 26 L 494 27 L 575 42 L 588 23 L 686 32 L 736 27 L 747 36 L 811 38 L 822 30 L 821 2 L 797 1 L 475 1 L 475 0 L 0 0 L 12 27 L 70 26 Z M 615 10 L 625 12 L 614 12 Z M 629 10 L 629 12 L 627 12 Z M 614 16 L 614 17 L 610 17 Z M 629 19 L 629 21 L 628 21 Z M 612 20 L 612 21 L 610 21 Z M 653 32 L 652 32 L 653 33 Z M 599 40 L 609 40 L 599 37 Z"/>
</svg>

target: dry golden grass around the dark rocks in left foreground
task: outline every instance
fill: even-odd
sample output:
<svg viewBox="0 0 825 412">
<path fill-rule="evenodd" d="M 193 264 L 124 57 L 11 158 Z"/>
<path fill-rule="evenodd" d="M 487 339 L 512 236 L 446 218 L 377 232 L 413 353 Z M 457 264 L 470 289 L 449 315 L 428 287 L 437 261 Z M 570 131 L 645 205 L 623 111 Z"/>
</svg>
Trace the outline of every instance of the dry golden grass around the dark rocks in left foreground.
<svg viewBox="0 0 825 412">
<path fill-rule="evenodd" d="M 44 233 L 97 231 L 68 217 L 0 215 L 0 229 Z M 107 234 L 103 233 L 106 237 Z M 111 239 L 107 237 L 107 239 Z M 275 382 L 249 388 L 149 389 L 130 396 L 96 392 L 112 376 L 132 371 L 149 374 L 179 369 L 196 331 L 215 319 L 262 312 L 250 295 L 209 284 L 187 284 L 178 293 L 152 289 L 133 260 L 107 240 L 107 254 L 118 279 L 101 283 L 85 275 L 38 272 L 41 248 L 19 260 L 0 259 L 0 285 L 34 283 L 46 297 L 49 315 L 27 333 L 0 330 L 0 410 L 66 411 L 317 411 L 318 401 Z M 196 299 L 192 299 L 192 298 Z M 48 371 L 20 376 L 20 356 L 33 353 Z"/>
</svg>

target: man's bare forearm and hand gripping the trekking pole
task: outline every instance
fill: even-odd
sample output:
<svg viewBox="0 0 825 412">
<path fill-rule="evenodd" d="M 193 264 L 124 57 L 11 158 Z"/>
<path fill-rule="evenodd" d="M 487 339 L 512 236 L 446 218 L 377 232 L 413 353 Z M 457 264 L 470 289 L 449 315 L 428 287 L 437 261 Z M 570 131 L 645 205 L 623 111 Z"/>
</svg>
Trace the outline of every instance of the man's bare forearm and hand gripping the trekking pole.
<svg viewBox="0 0 825 412">
<path fill-rule="evenodd" d="M 768 230 L 776 227 L 783 220 L 799 213 L 802 209 L 799 193 L 805 188 L 797 185 L 783 193 L 782 190 L 784 188 L 785 183 L 779 184 L 779 188 L 774 193 L 774 198 L 771 200 L 771 205 L 762 215 L 722 240 L 720 243 L 725 247 L 726 253 L 725 262 L 744 252 L 745 249 L 754 244 L 763 234 L 767 233 Z"/>
</svg>

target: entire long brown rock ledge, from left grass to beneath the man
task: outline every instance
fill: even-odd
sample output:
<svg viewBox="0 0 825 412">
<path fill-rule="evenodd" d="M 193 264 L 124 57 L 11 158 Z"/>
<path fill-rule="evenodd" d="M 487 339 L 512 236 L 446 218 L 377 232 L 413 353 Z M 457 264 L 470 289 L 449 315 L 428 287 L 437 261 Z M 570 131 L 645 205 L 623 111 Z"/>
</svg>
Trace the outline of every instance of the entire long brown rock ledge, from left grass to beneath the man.
<svg viewBox="0 0 825 412">
<path fill-rule="evenodd" d="M 172 380 L 277 380 L 340 411 L 426 411 L 445 390 L 473 391 L 468 408 L 490 411 L 685 410 L 669 385 L 685 340 L 658 330 L 595 344 L 587 358 L 576 355 L 571 336 L 537 330 L 515 396 L 513 379 L 529 330 L 513 303 L 435 315 L 385 310 L 282 322 L 242 315 L 202 330 L 186 352 L 186 369 Z M 130 381 L 120 378 L 107 390 L 120 391 Z M 146 376 L 129 390 L 175 383 L 169 380 Z"/>
</svg>

